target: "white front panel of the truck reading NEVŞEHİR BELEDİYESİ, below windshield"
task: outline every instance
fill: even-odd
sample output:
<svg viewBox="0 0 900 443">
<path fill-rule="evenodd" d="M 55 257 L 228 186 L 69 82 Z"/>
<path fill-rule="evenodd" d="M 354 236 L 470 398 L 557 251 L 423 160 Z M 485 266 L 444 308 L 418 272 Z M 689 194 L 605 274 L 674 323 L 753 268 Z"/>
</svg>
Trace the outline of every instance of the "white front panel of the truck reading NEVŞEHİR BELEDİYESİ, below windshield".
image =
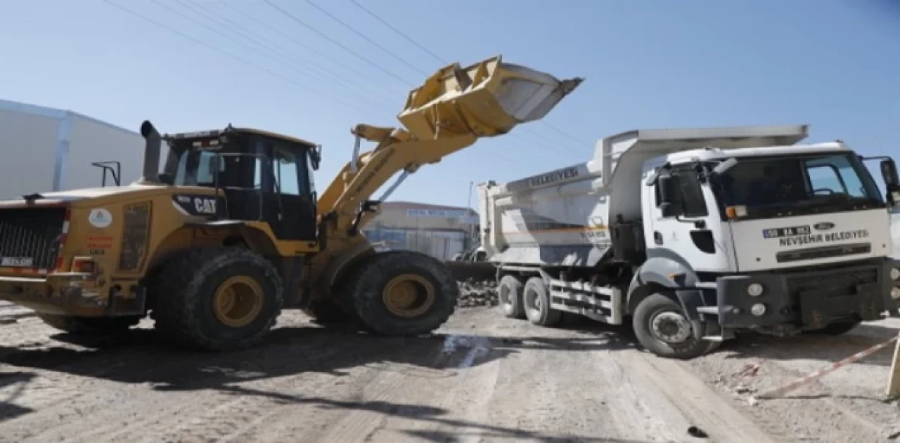
<svg viewBox="0 0 900 443">
<path fill-rule="evenodd" d="M 740 272 L 777 270 L 891 254 L 884 208 L 731 223 Z"/>
</svg>

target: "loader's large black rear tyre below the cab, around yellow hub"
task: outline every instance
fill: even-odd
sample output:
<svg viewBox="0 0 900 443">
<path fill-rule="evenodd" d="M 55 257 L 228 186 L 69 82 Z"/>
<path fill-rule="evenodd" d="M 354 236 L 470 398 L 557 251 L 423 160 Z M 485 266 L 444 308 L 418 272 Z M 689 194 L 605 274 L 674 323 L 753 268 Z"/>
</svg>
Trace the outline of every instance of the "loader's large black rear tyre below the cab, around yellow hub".
<svg viewBox="0 0 900 443">
<path fill-rule="evenodd" d="M 240 247 L 183 253 L 166 263 L 157 282 L 153 313 L 157 331 L 176 344 L 193 349 L 239 350 L 255 346 L 275 326 L 284 305 L 284 288 L 272 263 Z M 247 298 L 256 300 L 240 321 L 222 312 L 226 309 L 220 307 L 217 311 L 215 307 L 217 292 L 229 282 L 244 288 L 245 295 L 250 294 Z"/>
</svg>

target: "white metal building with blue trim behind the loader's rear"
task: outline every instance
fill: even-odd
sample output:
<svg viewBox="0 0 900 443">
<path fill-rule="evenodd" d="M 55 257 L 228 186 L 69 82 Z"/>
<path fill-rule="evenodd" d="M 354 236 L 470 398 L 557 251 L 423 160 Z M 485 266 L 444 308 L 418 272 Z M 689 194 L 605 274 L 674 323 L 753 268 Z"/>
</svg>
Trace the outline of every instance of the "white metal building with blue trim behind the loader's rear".
<svg viewBox="0 0 900 443">
<path fill-rule="evenodd" d="M 95 162 L 120 162 L 121 184 L 134 182 L 140 176 L 144 139 L 136 130 L 77 112 L 0 100 L 0 149 L 0 199 L 10 199 L 99 187 L 103 170 Z M 106 185 L 115 185 L 109 173 Z"/>
</svg>

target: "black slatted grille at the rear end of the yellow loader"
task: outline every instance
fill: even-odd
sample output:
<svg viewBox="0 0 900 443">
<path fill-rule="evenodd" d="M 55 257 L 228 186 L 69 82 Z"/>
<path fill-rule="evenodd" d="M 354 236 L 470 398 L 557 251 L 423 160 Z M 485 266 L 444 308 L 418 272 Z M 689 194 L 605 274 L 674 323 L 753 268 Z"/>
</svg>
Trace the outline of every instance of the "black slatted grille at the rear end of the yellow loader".
<svg viewBox="0 0 900 443">
<path fill-rule="evenodd" d="M 67 208 L 0 209 L 0 266 L 49 270 L 56 264 Z"/>
</svg>

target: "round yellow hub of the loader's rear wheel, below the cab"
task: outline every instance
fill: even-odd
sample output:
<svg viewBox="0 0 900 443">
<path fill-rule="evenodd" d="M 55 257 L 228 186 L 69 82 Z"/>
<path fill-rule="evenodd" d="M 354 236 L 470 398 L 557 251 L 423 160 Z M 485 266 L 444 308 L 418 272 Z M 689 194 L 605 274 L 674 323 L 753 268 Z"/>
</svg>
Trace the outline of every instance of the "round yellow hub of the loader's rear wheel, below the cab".
<svg viewBox="0 0 900 443">
<path fill-rule="evenodd" d="M 213 297 L 212 311 L 222 324 L 240 328 L 253 323 L 263 308 L 263 289 L 256 280 L 235 276 L 225 280 Z"/>
</svg>

